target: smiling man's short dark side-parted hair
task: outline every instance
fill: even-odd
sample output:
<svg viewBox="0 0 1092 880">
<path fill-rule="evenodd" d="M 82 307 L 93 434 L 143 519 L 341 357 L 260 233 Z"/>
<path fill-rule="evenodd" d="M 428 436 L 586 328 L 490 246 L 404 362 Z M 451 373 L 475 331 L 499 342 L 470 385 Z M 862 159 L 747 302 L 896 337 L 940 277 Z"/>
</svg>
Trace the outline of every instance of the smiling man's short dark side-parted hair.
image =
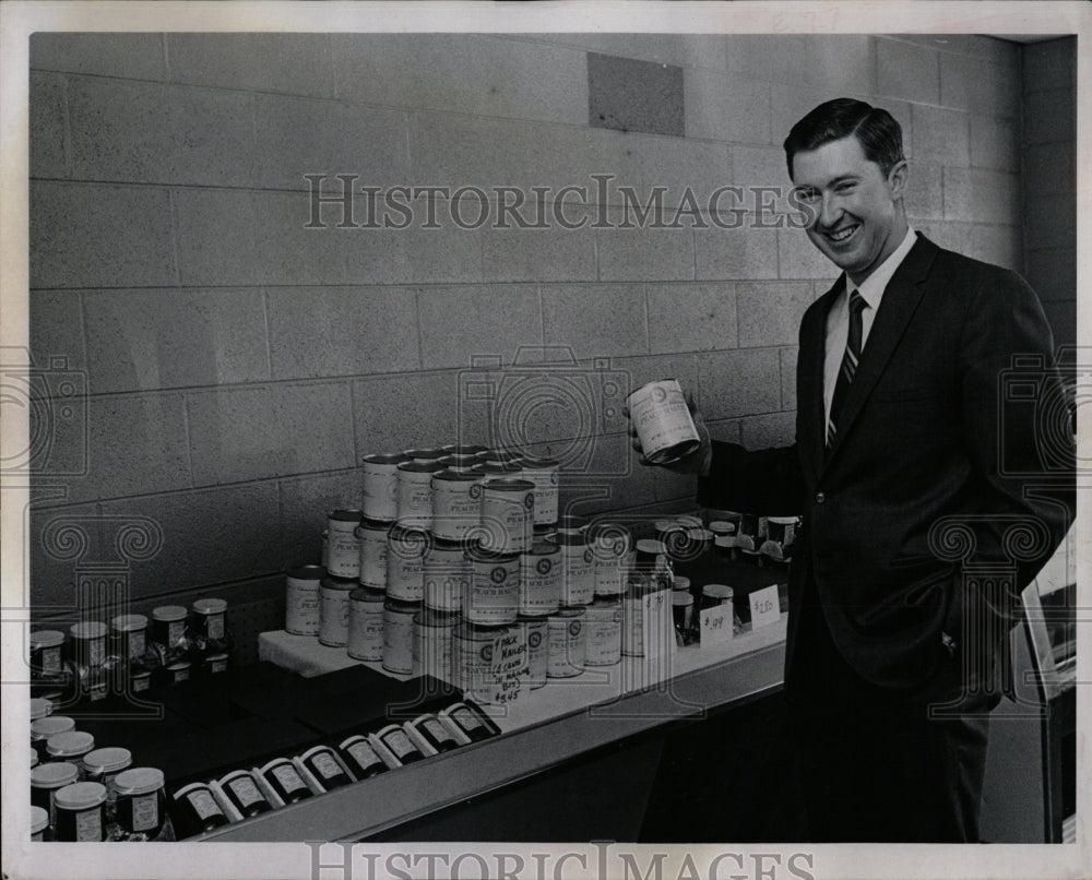
<svg viewBox="0 0 1092 880">
<path fill-rule="evenodd" d="M 831 141 L 855 134 L 865 157 L 880 166 L 887 176 L 905 156 L 902 153 L 902 127 L 887 110 L 863 100 L 834 98 L 820 104 L 793 126 L 785 139 L 788 177 L 793 177 L 793 157 L 818 150 Z"/>
</svg>

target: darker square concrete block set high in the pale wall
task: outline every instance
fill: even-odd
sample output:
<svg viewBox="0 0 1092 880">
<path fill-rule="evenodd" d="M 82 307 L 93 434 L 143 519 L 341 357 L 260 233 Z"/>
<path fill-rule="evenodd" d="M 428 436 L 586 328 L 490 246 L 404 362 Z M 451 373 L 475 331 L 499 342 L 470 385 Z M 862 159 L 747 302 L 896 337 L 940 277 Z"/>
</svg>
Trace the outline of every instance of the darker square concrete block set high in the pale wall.
<svg viewBox="0 0 1092 880">
<path fill-rule="evenodd" d="M 686 132 L 682 68 L 589 52 L 587 123 L 681 138 Z"/>
</svg>

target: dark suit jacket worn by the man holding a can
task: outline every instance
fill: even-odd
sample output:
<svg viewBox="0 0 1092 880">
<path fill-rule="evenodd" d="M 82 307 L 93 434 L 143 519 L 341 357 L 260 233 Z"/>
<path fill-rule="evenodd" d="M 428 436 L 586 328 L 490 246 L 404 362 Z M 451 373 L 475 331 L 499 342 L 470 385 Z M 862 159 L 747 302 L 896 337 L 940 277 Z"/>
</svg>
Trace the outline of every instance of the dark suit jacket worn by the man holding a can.
<svg viewBox="0 0 1092 880">
<path fill-rule="evenodd" d="M 936 668 L 964 616 L 1008 614 L 1000 593 L 1030 582 L 1063 540 L 1075 493 L 1066 392 L 1028 284 L 919 236 L 885 290 L 827 450 L 826 322 L 844 287 L 843 276 L 800 324 L 795 445 L 714 441 L 698 498 L 803 516 L 786 676 L 807 584 L 847 663 L 876 685 L 909 687 Z M 1031 399 L 1024 388 L 1008 400 L 1013 356 Z"/>
</svg>

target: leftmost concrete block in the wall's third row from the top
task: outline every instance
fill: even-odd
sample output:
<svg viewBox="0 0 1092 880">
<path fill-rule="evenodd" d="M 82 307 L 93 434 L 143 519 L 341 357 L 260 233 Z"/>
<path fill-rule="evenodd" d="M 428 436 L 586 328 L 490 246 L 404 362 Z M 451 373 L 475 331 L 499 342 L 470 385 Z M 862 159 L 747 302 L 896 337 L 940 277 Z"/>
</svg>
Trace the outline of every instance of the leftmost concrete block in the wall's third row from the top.
<svg viewBox="0 0 1092 880">
<path fill-rule="evenodd" d="M 32 181 L 29 221 L 32 287 L 177 281 L 166 190 Z"/>
</svg>

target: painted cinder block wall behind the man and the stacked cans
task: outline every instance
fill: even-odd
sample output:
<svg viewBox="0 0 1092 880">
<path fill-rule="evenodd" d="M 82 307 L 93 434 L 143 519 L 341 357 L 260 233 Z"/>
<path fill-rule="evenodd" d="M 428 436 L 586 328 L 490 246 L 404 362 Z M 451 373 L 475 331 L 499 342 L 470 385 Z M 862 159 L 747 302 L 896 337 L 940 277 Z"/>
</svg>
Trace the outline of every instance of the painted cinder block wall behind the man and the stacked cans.
<svg viewBox="0 0 1092 880">
<path fill-rule="evenodd" d="M 759 216 L 748 195 L 727 230 L 346 229 L 329 206 L 308 229 L 305 174 L 594 201 L 607 173 L 673 204 L 785 186 L 791 124 L 848 94 L 901 121 L 918 228 L 1024 264 L 1020 50 L 990 38 L 37 34 L 31 58 L 33 354 L 88 392 L 86 443 L 78 413 L 28 516 L 44 611 L 110 562 L 138 606 L 275 598 L 323 512 L 358 502 L 360 455 L 490 439 L 460 409 L 476 354 L 567 346 L 598 392 L 596 358 L 675 376 L 715 436 L 791 441 L 799 317 L 835 272 L 778 228 L 783 202 Z M 569 449 L 547 431 L 571 409 L 548 413 L 530 439 Z M 690 480 L 632 465 L 624 420 L 586 430 L 607 435 L 590 469 L 615 476 L 582 510 L 692 504 Z M 82 555 L 44 536 L 60 515 L 85 524 Z M 133 516 L 162 528 L 150 558 L 119 554 Z"/>
</svg>

